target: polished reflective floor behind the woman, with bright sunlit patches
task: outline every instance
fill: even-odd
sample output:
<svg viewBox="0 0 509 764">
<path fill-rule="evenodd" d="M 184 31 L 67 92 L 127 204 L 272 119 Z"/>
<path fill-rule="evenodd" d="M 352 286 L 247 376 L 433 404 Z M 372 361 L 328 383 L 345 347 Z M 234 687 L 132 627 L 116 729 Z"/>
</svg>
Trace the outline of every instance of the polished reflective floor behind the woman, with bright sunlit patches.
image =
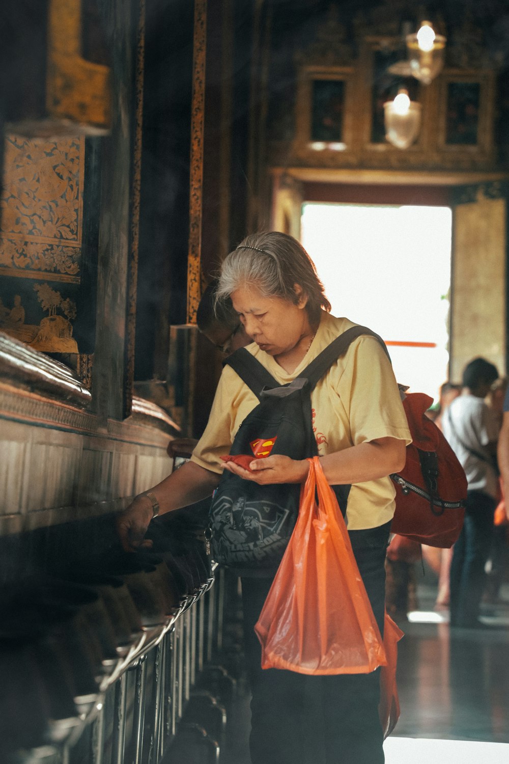
<svg viewBox="0 0 509 764">
<path fill-rule="evenodd" d="M 400 624 L 401 717 L 385 741 L 387 764 L 509 762 L 509 584 L 483 606 L 491 628 L 450 630 L 436 613 L 436 589 L 418 586 L 419 609 Z M 249 764 L 249 694 L 240 681 L 230 708 L 221 764 Z"/>
</svg>

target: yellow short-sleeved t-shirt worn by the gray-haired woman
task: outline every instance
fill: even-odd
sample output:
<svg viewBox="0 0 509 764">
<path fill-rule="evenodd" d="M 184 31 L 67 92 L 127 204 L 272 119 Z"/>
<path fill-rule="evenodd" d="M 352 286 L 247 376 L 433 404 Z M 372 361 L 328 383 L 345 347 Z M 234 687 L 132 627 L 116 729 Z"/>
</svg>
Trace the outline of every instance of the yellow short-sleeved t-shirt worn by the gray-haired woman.
<svg viewBox="0 0 509 764">
<path fill-rule="evenodd" d="M 321 323 L 301 364 L 288 374 L 256 343 L 247 350 L 279 384 L 287 384 L 338 335 L 355 324 L 322 312 Z M 221 456 L 230 452 L 237 430 L 259 401 L 229 366 L 224 367 L 212 404 L 208 425 L 192 461 L 221 473 Z M 408 445 L 411 435 L 390 361 L 374 337 L 359 337 L 311 393 L 313 430 L 318 454 L 323 456 L 379 438 L 397 438 Z M 353 484 L 348 497 L 346 523 L 350 530 L 375 528 L 394 515 L 395 489 L 391 478 Z"/>
</svg>

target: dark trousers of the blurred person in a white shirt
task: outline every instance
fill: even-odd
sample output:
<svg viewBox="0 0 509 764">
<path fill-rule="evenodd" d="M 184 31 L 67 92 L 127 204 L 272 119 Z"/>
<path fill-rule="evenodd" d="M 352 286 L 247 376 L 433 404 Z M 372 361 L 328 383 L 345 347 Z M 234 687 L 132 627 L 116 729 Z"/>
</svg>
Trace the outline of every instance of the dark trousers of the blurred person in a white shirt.
<svg viewBox="0 0 509 764">
<path fill-rule="evenodd" d="M 493 535 L 496 501 L 469 490 L 465 521 L 454 545 L 450 573 L 451 626 L 475 625 L 485 586 L 485 564 Z"/>
</svg>

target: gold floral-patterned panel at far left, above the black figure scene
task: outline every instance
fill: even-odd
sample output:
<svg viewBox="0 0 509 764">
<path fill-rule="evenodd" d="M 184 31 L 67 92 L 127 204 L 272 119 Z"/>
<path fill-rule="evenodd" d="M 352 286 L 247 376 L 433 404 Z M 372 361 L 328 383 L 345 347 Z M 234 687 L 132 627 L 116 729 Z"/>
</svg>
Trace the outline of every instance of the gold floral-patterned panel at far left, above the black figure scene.
<svg viewBox="0 0 509 764">
<path fill-rule="evenodd" d="M 6 138 L 0 275 L 79 283 L 84 153 L 84 138 Z"/>
</svg>

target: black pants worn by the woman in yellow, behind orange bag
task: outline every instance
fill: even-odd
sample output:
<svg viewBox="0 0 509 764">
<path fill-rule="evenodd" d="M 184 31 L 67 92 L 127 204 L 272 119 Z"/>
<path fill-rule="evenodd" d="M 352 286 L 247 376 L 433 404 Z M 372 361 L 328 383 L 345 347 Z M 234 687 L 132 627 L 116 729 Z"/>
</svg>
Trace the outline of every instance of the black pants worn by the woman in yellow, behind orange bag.
<svg viewBox="0 0 509 764">
<path fill-rule="evenodd" d="M 383 634 L 385 552 L 390 523 L 352 531 L 350 540 Z M 254 633 L 271 580 L 243 578 L 253 764 L 383 764 L 379 669 L 372 674 L 307 676 L 261 668 Z M 333 584 L 332 584 L 333 585 Z"/>
</svg>

